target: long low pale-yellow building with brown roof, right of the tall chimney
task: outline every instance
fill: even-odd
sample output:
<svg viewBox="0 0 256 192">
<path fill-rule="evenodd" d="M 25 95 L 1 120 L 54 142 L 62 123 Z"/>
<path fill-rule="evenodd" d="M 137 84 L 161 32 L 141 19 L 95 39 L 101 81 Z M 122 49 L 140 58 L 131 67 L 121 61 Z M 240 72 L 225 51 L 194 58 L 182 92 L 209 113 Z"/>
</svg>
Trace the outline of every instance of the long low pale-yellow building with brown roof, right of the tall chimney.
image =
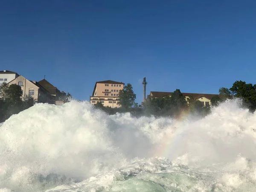
<svg viewBox="0 0 256 192">
<path fill-rule="evenodd" d="M 151 91 L 148 98 L 151 97 L 163 97 L 163 96 L 171 96 L 172 92 L 158 92 L 158 91 Z M 204 93 L 182 93 L 183 96 L 186 97 L 188 101 L 189 98 L 197 99 L 198 101 L 202 102 L 204 106 L 209 106 L 211 104 L 212 97 L 216 96 L 217 94 L 204 94 Z M 218 96 L 218 95 L 217 95 Z"/>
</svg>

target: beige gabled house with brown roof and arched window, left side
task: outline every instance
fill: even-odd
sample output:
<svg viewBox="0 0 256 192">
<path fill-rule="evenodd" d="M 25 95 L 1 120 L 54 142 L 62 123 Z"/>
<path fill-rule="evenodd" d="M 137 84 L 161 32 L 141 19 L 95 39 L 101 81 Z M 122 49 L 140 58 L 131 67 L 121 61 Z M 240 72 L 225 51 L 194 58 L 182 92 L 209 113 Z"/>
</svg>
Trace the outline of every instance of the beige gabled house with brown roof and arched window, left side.
<svg viewBox="0 0 256 192">
<path fill-rule="evenodd" d="M 22 99 L 24 99 L 25 96 L 29 96 L 32 97 L 35 102 L 52 102 L 52 96 L 49 94 L 49 92 L 36 81 L 29 81 L 23 76 L 18 76 L 8 84 L 20 85 L 23 92 Z"/>
</svg>

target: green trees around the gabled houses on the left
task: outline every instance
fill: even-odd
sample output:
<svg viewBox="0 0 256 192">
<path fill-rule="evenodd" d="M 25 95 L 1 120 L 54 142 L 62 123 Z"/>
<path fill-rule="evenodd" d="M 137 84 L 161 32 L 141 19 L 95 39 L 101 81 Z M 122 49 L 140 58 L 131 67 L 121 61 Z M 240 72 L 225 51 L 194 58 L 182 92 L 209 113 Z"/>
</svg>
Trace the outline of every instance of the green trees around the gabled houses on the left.
<svg viewBox="0 0 256 192">
<path fill-rule="evenodd" d="M 21 87 L 17 84 L 8 85 L 3 83 L 0 86 L 0 122 L 4 122 L 13 114 L 17 114 L 35 104 L 32 96 L 25 95 L 21 99 L 22 94 Z M 68 93 L 67 96 L 62 96 L 59 99 L 68 102 L 70 97 L 72 96 Z"/>
</svg>

